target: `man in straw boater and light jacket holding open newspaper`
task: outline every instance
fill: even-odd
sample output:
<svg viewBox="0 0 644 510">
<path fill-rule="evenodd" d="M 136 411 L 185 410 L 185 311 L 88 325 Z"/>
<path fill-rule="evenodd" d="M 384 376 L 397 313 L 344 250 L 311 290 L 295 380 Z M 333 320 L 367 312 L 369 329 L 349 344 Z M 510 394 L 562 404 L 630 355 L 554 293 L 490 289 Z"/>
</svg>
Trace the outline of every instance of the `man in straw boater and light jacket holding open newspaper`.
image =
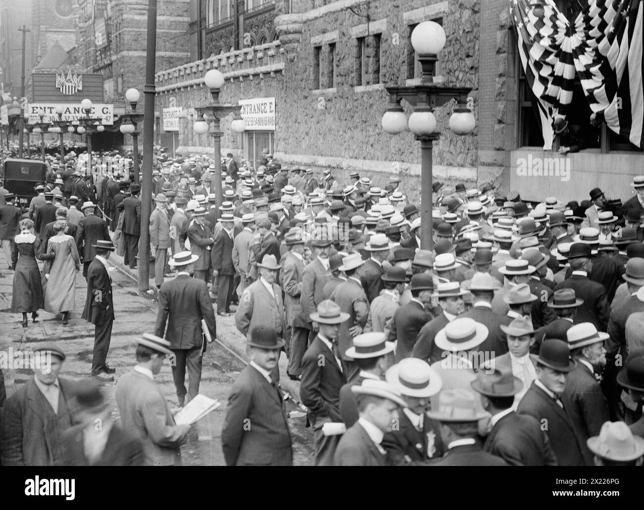
<svg viewBox="0 0 644 510">
<path fill-rule="evenodd" d="M 173 356 L 170 342 L 147 333 L 135 342 L 137 366 L 118 378 L 116 388 L 123 430 L 142 441 L 146 466 L 180 466 L 180 447 L 187 441 L 190 425 L 176 424 L 154 380 L 166 356 Z"/>
</svg>

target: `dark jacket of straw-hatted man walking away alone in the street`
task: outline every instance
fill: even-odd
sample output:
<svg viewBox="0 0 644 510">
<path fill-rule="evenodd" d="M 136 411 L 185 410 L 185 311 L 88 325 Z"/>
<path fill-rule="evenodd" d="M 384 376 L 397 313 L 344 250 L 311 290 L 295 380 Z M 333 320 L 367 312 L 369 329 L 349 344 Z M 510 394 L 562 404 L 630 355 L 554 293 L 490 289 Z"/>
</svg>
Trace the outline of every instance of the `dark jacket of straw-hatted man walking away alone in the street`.
<svg viewBox="0 0 644 510">
<path fill-rule="evenodd" d="M 162 284 L 159 289 L 155 335 L 166 338 L 170 342 L 170 349 L 205 347 L 202 319 L 214 338 L 217 326 L 208 286 L 203 280 L 179 275 Z"/>
</svg>

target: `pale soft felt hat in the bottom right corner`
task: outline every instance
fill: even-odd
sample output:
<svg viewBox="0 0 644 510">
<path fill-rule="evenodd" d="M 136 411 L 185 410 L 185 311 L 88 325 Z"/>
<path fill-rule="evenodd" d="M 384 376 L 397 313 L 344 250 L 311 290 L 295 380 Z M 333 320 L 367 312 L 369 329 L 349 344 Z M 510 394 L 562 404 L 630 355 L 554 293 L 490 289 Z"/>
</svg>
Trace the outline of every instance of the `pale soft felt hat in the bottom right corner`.
<svg viewBox="0 0 644 510">
<path fill-rule="evenodd" d="M 644 439 L 633 435 L 623 421 L 605 422 L 600 435 L 589 437 L 586 444 L 598 457 L 616 462 L 629 462 L 644 455 Z"/>
</svg>

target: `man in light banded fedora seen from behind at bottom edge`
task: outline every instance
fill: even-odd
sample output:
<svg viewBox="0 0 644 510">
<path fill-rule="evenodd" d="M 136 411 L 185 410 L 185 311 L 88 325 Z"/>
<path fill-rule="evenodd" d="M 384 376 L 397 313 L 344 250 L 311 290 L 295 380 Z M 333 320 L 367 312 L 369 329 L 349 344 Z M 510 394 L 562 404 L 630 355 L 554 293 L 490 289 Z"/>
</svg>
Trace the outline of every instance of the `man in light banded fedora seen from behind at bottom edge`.
<svg viewBox="0 0 644 510">
<path fill-rule="evenodd" d="M 478 442 L 478 421 L 488 415 L 479 410 L 477 396 L 468 388 L 442 390 L 437 409 L 427 415 L 440 422 L 440 435 L 446 445 L 442 459 L 428 466 L 507 466 L 507 462 L 482 449 Z"/>
</svg>

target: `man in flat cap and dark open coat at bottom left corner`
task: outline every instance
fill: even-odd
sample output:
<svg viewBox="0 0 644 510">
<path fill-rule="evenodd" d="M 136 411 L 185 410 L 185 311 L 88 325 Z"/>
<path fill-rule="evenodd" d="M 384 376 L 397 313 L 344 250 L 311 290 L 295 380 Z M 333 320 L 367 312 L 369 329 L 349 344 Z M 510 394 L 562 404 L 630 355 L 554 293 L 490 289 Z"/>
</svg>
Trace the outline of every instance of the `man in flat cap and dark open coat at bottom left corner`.
<svg viewBox="0 0 644 510">
<path fill-rule="evenodd" d="M 33 377 L 5 403 L 3 466 L 61 466 L 62 435 L 73 424 L 73 384 L 58 376 L 64 352 L 53 343 L 33 351 Z"/>
</svg>

